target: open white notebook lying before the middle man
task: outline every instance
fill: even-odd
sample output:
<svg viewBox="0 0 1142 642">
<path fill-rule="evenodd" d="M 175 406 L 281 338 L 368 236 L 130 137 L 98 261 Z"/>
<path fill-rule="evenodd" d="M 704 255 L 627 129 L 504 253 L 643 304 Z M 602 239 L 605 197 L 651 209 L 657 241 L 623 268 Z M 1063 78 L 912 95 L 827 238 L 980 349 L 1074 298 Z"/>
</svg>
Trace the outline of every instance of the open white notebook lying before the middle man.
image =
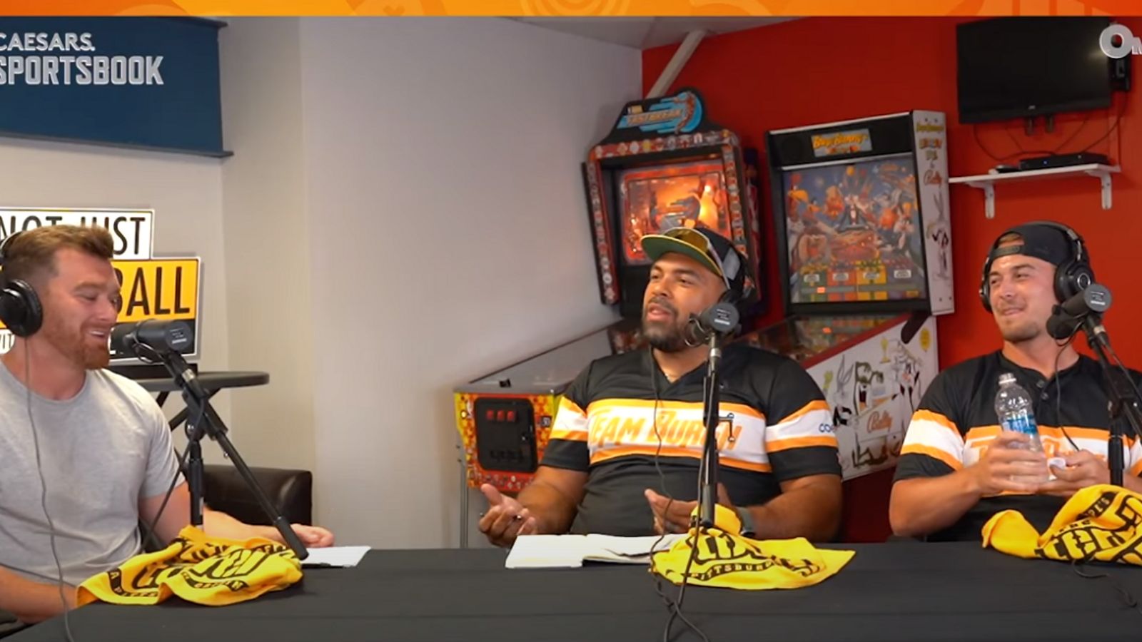
<svg viewBox="0 0 1142 642">
<path fill-rule="evenodd" d="M 614 537 L 611 535 L 521 535 L 505 565 L 509 569 L 572 569 L 584 562 L 649 564 L 654 552 L 668 549 L 685 533 Z M 656 546 L 654 544 L 658 543 Z"/>
</svg>

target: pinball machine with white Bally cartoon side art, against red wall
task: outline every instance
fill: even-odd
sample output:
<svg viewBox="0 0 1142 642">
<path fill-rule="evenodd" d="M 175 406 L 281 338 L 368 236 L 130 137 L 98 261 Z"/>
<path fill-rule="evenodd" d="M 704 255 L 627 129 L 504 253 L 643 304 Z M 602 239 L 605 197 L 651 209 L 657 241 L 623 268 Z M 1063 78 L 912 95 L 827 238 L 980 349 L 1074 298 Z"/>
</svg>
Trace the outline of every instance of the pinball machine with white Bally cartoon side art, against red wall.
<svg viewBox="0 0 1142 642">
<path fill-rule="evenodd" d="M 895 465 L 952 312 L 944 114 L 770 131 L 782 321 L 742 340 L 825 392 L 846 480 Z"/>
</svg>

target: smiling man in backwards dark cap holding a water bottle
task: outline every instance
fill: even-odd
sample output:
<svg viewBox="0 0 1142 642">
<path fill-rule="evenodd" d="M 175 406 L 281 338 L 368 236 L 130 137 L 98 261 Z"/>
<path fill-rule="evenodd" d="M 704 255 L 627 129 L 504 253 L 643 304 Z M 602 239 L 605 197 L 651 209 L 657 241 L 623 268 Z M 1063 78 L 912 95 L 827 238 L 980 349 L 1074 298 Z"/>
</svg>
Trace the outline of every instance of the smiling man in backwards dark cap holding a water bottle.
<svg viewBox="0 0 1142 642">
<path fill-rule="evenodd" d="M 1043 532 L 1077 490 L 1110 483 L 1102 370 L 1069 342 L 1060 346 L 1046 327 L 1056 304 L 1093 281 L 1081 238 L 1057 223 L 1019 225 L 992 243 L 980 296 L 1003 348 L 944 370 L 925 392 L 892 488 L 896 535 L 979 540 L 988 519 L 1008 508 Z M 1006 372 L 1031 394 L 1046 455 L 1027 450 L 1026 435 L 999 431 L 995 398 Z M 1142 446 L 1126 442 L 1123 483 L 1142 491 Z M 1048 467 L 1049 457 L 1065 466 Z M 1047 471 L 1055 479 L 1026 482 Z"/>
</svg>

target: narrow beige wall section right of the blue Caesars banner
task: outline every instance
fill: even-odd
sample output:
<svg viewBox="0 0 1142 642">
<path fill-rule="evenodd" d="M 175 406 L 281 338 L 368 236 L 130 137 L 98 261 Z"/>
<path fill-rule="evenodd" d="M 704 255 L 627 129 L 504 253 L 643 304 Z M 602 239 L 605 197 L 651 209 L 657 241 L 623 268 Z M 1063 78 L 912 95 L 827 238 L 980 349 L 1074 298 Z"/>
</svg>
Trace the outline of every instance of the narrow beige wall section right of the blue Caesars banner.
<svg viewBox="0 0 1142 642">
<path fill-rule="evenodd" d="M 230 362 L 270 372 L 233 391 L 251 466 L 313 470 L 313 332 L 301 162 L 298 18 L 235 18 L 219 32 Z"/>
</svg>

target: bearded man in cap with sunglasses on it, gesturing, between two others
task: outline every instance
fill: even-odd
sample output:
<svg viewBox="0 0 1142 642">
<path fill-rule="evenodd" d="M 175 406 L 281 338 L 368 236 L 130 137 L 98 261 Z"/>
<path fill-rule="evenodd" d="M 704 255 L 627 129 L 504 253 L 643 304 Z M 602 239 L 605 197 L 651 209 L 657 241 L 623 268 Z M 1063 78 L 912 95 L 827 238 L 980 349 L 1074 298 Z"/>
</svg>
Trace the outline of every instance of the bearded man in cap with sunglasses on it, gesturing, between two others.
<svg viewBox="0 0 1142 642">
<path fill-rule="evenodd" d="M 726 239 L 676 227 L 643 236 L 654 263 L 643 295 L 649 350 L 597 359 L 566 390 L 532 483 L 517 499 L 485 484 L 480 530 L 517 535 L 682 532 L 698 496 L 709 348 L 686 342 L 691 315 L 742 297 L 746 262 Z M 841 465 L 831 415 L 795 361 L 730 344 L 719 362 L 719 503 L 758 539 L 831 538 Z M 671 499 L 673 497 L 673 499 Z"/>
</svg>

